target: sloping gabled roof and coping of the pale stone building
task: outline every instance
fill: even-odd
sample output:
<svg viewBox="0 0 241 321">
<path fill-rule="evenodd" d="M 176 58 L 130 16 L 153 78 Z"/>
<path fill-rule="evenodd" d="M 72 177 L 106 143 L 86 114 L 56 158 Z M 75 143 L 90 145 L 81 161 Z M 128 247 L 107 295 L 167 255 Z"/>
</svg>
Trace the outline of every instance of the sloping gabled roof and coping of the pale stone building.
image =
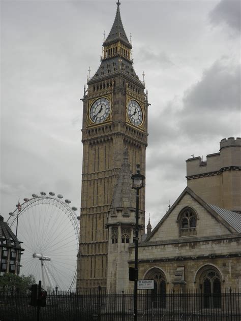
<svg viewBox="0 0 241 321">
<path fill-rule="evenodd" d="M 196 200 L 202 207 L 204 207 L 210 215 L 212 215 L 215 219 L 217 219 L 221 224 L 223 224 L 231 233 L 240 233 L 240 225 L 241 225 L 241 214 L 237 214 L 235 212 L 221 209 L 218 206 L 215 205 L 209 205 L 203 199 L 201 199 L 195 192 L 189 188 L 186 187 L 182 194 L 177 198 L 177 200 L 174 202 L 174 204 L 171 206 L 171 208 L 166 212 L 166 214 L 163 216 L 163 218 L 160 220 L 160 222 L 157 224 L 155 229 L 152 231 L 152 233 L 145 239 L 144 242 L 148 242 L 153 235 L 159 230 L 159 227 L 162 225 L 162 223 L 168 218 L 168 216 L 171 214 L 173 209 L 176 207 L 176 205 L 180 202 L 180 200 L 183 199 L 185 194 L 189 194 L 194 200 Z M 236 225 L 237 223 L 237 225 Z"/>
</svg>

